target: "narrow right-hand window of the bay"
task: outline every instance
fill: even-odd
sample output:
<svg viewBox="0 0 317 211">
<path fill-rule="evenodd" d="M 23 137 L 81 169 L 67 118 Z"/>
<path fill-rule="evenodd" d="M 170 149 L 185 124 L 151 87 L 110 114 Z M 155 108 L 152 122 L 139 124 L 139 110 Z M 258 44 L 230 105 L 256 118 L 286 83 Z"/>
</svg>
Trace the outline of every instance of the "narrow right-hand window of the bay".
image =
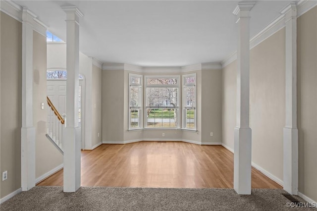
<svg viewBox="0 0 317 211">
<path fill-rule="evenodd" d="M 183 128 L 196 129 L 196 73 L 183 75 Z"/>
</svg>

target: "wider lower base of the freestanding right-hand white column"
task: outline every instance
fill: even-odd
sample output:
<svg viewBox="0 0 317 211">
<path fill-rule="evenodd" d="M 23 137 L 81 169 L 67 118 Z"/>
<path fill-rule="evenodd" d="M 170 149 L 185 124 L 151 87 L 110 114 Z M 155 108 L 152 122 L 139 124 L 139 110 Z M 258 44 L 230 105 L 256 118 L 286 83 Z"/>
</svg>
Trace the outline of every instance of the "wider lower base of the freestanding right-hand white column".
<svg viewBox="0 0 317 211">
<path fill-rule="evenodd" d="M 241 195 L 251 194 L 251 140 L 250 128 L 234 128 L 233 188 Z"/>
</svg>

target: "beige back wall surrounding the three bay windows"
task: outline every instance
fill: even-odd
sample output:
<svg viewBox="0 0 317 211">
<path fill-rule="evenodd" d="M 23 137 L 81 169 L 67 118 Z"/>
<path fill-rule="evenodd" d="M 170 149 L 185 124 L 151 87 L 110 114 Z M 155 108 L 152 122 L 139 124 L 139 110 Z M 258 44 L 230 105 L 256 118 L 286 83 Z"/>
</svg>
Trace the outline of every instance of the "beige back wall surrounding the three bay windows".
<svg viewBox="0 0 317 211">
<path fill-rule="evenodd" d="M 151 70 L 152 68 L 148 68 L 148 71 Z M 155 68 L 155 70 L 157 69 Z M 127 143 L 129 141 L 164 139 L 188 140 L 193 143 L 201 144 L 202 136 L 204 136 L 204 142 L 202 144 L 221 143 L 221 70 L 198 70 L 183 74 L 165 72 L 139 73 L 127 70 L 103 70 L 103 142 Z M 143 75 L 144 77 L 145 75 L 180 75 L 180 77 L 182 77 L 184 74 L 196 73 L 197 132 L 158 128 L 129 131 L 129 73 Z M 115 92 L 110 93 L 109 90 Z M 180 87 L 180 90 L 182 90 L 182 87 Z M 180 96 L 179 100 L 182 102 L 182 96 Z M 106 107 L 112 107 L 112 109 L 107 110 Z M 123 109 L 123 113 L 118 113 L 121 108 Z M 113 109 L 117 111 L 113 112 Z M 203 116 L 202 113 L 205 113 L 206 115 Z M 179 114 L 181 123 L 181 107 Z M 203 125 L 204 129 L 202 128 Z M 210 136 L 210 132 L 213 132 L 213 137 Z M 164 137 L 162 136 L 162 133 L 165 134 Z M 122 135 L 123 139 L 121 138 Z"/>
</svg>

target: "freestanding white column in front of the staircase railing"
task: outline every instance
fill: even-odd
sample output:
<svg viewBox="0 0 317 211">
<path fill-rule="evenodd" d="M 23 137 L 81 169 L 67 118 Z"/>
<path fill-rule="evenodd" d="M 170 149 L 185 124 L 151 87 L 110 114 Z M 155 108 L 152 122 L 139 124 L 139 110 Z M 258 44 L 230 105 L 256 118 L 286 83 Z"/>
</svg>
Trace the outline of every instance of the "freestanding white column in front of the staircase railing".
<svg viewBox="0 0 317 211">
<path fill-rule="evenodd" d="M 78 126 L 79 92 L 79 18 L 83 14 L 75 6 L 64 6 L 66 12 L 66 128 L 64 150 L 64 192 L 80 187 L 80 127 Z"/>
</svg>

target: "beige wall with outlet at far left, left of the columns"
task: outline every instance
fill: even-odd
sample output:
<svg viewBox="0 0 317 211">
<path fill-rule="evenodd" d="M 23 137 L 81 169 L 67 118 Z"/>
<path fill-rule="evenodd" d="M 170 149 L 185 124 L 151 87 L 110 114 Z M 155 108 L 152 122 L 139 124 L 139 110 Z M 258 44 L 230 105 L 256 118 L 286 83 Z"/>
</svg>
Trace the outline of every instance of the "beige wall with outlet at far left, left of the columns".
<svg viewBox="0 0 317 211">
<path fill-rule="evenodd" d="M 0 198 L 21 187 L 22 24 L 1 14 L 1 168 Z"/>
</svg>

